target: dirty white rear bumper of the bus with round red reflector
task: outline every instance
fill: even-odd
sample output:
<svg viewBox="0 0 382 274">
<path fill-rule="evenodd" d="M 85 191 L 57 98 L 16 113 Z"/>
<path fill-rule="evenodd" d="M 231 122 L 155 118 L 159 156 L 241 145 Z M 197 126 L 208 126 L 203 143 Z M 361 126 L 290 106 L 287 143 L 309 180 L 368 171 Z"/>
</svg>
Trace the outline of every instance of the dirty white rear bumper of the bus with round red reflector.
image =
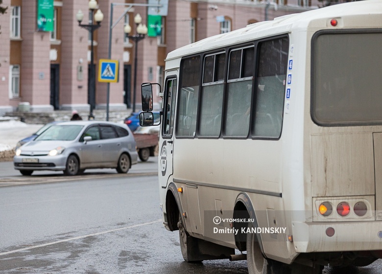
<svg viewBox="0 0 382 274">
<path fill-rule="evenodd" d="M 334 235 L 326 235 L 334 228 Z M 302 223 L 292 222 L 296 252 L 372 251 L 382 250 L 382 221 Z"/>
</svg>

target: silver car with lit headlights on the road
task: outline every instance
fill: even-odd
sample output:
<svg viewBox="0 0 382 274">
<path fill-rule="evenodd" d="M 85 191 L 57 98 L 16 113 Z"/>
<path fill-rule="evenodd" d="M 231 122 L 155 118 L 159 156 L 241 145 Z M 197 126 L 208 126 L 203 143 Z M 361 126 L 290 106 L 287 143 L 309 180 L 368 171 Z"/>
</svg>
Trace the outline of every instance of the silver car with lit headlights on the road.
<svg viewBox="0 0 382 274">
<path fill-rule="evenodd" d="M 52 125 L 16 150 L 14 167 L 23 175 L 35 170 L 62 170 L 77 175 L 89 168 L 116 168 L 126 173 L 137 163 L 136 142 L 123 124 L 71 121 Z"/>
</svg>

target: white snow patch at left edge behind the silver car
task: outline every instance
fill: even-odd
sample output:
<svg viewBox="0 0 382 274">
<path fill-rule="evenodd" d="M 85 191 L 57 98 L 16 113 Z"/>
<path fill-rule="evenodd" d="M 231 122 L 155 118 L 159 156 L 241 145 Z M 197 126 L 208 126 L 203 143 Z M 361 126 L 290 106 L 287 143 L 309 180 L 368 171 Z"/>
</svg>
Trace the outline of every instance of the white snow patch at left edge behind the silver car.
<svg viewBox="0 0 382 274">
<path fill-rule="evenodd" d="M 14 149 L 18 141 L 32 135 L 42 126 L 17 120 L 6 121 L 5 117 L 0 117 L 0 151 Z"/>
</svg>

